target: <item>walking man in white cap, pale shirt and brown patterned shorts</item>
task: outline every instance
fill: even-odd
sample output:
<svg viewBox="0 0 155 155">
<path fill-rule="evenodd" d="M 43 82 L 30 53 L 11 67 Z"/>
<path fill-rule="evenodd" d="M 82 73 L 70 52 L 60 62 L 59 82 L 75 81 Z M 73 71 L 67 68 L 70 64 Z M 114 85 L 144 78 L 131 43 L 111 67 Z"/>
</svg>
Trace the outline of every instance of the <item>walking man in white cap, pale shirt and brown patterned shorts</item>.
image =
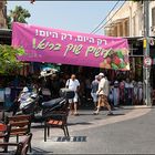
<svg viewBox="0 0 155 155">
<path fill-rule="evenodd" d="M 99 103 L 97 103 L 97 110 L 94 112 L 94 114 L 99 114 L 101 106 L 106 106 L 108 110 L 107 115 L 112 115 L 113 113 L 112 113 L 111 106 L 107 102 L 108 80 L 104 76 L 103 73 L 100 73 L 99 78 L 100 78 L 100 83 L 99 83 L 99 90 L 96 92 L 96 94 L 99 95 Z"/>
</svg>

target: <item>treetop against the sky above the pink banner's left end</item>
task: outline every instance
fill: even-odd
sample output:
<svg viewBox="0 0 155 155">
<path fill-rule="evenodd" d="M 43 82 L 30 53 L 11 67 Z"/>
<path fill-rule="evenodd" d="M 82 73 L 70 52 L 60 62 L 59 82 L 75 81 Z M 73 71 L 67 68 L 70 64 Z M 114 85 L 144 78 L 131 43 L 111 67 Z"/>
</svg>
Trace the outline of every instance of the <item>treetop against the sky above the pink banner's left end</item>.
<svg viewBox="0 0 155 155">
<path fill-rule="evenodd" d="M 16 6 L 14 10 L 10 10 L 8 16 L 8 28 L 11 29 L 12 22 L 27 23 L 27 19 L 30 17 L 31 14 L 27 9 L 23 9 L 21 6 Z"/>
</svg>

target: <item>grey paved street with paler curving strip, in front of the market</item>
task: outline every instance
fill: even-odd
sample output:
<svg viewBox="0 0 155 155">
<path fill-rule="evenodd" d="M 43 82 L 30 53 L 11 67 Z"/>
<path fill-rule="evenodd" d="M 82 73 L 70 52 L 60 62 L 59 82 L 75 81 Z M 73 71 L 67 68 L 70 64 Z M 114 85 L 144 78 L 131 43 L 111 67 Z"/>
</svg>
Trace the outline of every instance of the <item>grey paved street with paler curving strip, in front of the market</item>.
<svg viewBox="0 0 155 155">
<path fill-rule="evenodd" d="M 155 153 L 155 108 L 122 108 L 114 111 L 114 116 L 106 116 L 105 111 L 100 115 L 80 113 L 69 116 L 70 141 L 61 138 L 63 131 L 52 128 L 43 142 L 43 128 L 33 127 L 32 154 Z M 75 142 L 79 136 L 84 136 L 84 142 Z"/>
</svg>

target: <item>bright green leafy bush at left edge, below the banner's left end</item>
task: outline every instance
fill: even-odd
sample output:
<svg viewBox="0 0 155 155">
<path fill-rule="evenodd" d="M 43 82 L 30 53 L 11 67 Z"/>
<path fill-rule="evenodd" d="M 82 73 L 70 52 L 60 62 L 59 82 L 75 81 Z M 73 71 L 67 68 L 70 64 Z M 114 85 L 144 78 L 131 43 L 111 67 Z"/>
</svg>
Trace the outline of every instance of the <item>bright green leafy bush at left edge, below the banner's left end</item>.
<svg viewBox="0 0 155 155">
<path fill-rule="evenodd" d="M 23 55 L 22 48 L 14 49 L 11 45 L 0 44 L 0 74 L 14 74 L 23 66 L 23 63 L 17 60 L 18 55 Z"/>
</svg>

